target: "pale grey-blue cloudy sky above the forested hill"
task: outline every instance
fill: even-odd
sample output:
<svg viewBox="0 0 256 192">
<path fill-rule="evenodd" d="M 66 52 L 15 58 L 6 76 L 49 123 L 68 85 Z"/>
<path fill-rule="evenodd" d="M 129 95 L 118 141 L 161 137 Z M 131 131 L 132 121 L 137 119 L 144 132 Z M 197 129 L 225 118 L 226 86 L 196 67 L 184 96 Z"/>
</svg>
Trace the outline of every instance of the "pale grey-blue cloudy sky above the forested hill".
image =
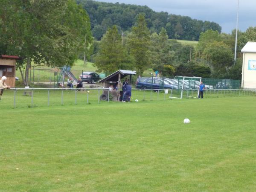
<svg viewBox="0 0 256 192">
<path fill-rule="evenodd" d="M 189 16 L 219 23 L 222 32 L 236 28 L 237 0 L 98 0 L 111 3 L 146 5 L 154 11 Z M 240 0 L 239 30 L 256 26 L 256 0 Z"/>
</svg>

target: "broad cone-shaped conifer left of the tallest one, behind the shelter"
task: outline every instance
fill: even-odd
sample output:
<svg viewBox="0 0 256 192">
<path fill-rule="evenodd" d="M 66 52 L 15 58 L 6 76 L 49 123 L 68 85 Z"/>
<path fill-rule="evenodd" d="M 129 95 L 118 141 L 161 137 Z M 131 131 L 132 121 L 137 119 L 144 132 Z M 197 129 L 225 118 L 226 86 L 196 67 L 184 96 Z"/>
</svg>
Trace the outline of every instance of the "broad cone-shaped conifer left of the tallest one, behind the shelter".
<svg viewBox="0 0 256 192">
<path fill-rule="evenodd" d="M 99 72 L 115 72 L 119 69 L 128 69 L 131 60 L 122 45 L 121 35 L 117 27 L 109 28 L 99 44 L 99 52 L 95 58 L 95 66 Z"/>
</svg>

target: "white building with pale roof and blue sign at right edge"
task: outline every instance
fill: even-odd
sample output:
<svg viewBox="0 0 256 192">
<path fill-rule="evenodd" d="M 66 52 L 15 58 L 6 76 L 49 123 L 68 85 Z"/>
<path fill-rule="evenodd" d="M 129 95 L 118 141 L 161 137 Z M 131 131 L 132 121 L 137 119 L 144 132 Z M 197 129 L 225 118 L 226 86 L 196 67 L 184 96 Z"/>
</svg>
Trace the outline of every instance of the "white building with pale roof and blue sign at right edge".
<svg viewBox="0 0 256 192">
<path fill-rule="evenodd" d="M 242 85 L 243 88 L 256 88 L 256 42 L 248 42 L 243 52 Z"/>
</svg>

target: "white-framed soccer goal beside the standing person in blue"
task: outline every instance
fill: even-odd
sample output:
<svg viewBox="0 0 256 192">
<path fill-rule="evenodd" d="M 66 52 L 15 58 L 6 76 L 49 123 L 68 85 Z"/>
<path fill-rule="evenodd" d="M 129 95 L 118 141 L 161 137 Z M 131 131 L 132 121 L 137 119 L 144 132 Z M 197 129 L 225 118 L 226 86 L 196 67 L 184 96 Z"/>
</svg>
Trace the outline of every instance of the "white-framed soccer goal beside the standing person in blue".
<svg viewBox="0 0 256 192">
<path fill-rule="evenodd" d="M 182 99 L 185 96 L 186 98 L 197 98 L 201 80 L 201 77 L 175 76 L 173 79 L 174 86 L 169 98 Z"/>
</svg>

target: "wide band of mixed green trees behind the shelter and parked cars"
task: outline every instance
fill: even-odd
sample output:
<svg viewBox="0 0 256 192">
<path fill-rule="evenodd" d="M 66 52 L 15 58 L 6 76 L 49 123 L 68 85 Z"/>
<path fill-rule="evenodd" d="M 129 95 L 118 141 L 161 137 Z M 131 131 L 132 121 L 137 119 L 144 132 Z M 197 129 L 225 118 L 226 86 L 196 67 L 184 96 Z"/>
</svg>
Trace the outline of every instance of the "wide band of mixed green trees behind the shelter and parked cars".
<svg viewBox="0 0 256 192">
<path fill-rule="evenodd" d="M 201 32 L 195 46 L 181 44 L 168 38 L 162 27 L 159 33 L 150 32 L 144 14 L 137 17 L 131 32 L 108 28 L 102 41 L 94 41 L 91 59 L 99 72 L 117 69 L 136 70 L 142 75 L 151 68 L 160 75 L 200 76 L 203 78 L 241 79 L 241 48 L 254 41 L 256 28 L 239 31 L 237 59 L 234 61 L 235 31 L 231 34 L 209 29 Z"/>
</svg>

